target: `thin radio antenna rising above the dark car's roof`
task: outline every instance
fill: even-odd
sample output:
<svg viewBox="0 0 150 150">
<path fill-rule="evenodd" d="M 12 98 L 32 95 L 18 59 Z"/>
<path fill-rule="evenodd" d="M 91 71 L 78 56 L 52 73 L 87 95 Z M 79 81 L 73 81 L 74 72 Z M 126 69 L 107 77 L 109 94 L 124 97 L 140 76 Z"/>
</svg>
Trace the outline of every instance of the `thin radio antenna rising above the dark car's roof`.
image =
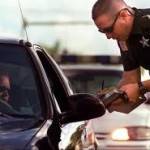
<svg viewBox="0 0 150 150">
<path fill-rule="evenodd" d="M 27 27 L 27 22 L 25 21 L 25 18 L 24 18 L 24 16 L 23 16 L 23 12 L 22 12 L 22 9 L 21 9 L 21 3 L 20 3 L 20 0 L 18 0 L 18 6 L 19 6 L 20 13 L 21 13 L 23 29 L 24 29 L 24 32 L 25 32 L 27 41 L 29 41 L 28 33 L 27 33 L 27 29 L 26 29 L 26 27 Z"/>
</svg>

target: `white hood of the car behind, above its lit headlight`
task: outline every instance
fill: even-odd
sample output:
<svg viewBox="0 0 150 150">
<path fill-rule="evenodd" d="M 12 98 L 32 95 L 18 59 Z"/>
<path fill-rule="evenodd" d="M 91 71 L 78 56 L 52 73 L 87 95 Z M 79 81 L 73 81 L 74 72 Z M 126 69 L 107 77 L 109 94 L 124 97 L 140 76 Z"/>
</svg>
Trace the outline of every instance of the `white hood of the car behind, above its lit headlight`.
<svg viewBox="0 0 150 150">
<path fill-rule="evenodd" d="M 150 126 L 150 105 L 142 104 L 129 114 L 107 112 L 104 116 L 92 120 L 95 132 L 110 132 L 120 127 Z"/>
</svg>

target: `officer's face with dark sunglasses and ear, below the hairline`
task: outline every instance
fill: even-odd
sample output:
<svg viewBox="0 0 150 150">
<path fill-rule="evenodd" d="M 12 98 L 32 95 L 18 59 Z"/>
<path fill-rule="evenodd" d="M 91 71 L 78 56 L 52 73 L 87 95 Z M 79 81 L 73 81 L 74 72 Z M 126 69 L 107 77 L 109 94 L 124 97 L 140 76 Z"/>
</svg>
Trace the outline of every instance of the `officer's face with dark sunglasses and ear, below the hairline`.
<svg viewBox="0 0 150 150">
<path fill-rule="evenodd" d="M 107 14 L 97 17 L 95 24 L 98 30 L 106 34 L 108 39 L 126 40 L 129 35 L 127 11 L 121 10 L 116 16 Z"/>
</svg>

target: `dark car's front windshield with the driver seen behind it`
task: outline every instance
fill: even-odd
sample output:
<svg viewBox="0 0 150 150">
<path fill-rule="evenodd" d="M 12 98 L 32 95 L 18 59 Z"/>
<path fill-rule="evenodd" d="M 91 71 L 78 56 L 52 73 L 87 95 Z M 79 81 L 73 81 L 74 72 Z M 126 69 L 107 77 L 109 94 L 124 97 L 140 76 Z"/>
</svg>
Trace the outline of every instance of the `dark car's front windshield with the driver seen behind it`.
<svg viewBox="0 0 150 150">
<path fill-rule="evenodd" d="M 0 76 L 1 73 L 9 76 L 10 88 L 9 100 L 5 101 L 1 98 L 0 81 L 0 112 L 41 116 L 40 91 L 37 89 L 35 70 L 24 47 L 0 45 Z"/>
</svg>

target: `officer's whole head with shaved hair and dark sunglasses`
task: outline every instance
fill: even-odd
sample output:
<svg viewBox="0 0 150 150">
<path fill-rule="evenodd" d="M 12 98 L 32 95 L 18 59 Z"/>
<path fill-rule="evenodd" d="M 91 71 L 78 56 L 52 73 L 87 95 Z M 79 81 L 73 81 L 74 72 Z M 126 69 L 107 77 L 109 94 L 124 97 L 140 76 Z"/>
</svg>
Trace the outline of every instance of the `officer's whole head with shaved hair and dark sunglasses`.
<svg viewBox="0 0 150 150">
<path fill-rule="evenodd" d="M 132 29 L 134 11 L 123 0 L 97 0 L 92 19 L 108 39 L 126 40 Z"/>
</svg>

